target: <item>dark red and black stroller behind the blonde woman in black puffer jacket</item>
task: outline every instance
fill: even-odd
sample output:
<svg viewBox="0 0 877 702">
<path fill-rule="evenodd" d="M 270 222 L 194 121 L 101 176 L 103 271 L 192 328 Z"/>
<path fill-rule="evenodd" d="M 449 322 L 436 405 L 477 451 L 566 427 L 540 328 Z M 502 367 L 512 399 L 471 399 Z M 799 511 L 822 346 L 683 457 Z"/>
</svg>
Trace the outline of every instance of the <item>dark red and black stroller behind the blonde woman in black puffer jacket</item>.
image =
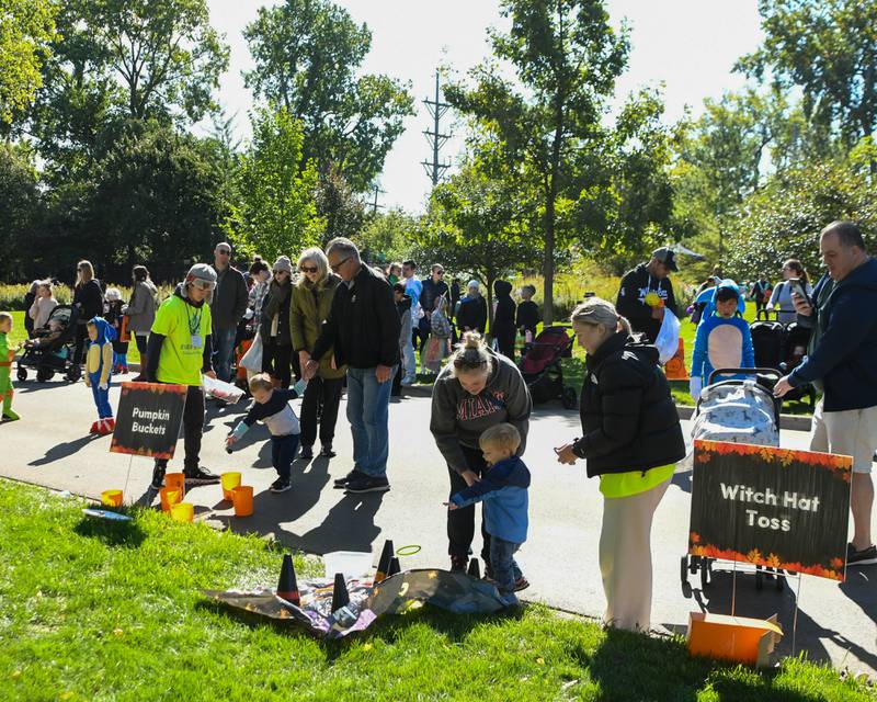
<svg viewBox="0 0 877 702">
<path fill-rule="evenodd" d="M 529 395 L 536 404 L 560 399 L 566 409 L 576 409 L 579 399 L 574 387 L 563 386 L 560 359 L 572 355 L 569 327 L 547 327 L 524 349 L 519 363 Z"/>
</svg>

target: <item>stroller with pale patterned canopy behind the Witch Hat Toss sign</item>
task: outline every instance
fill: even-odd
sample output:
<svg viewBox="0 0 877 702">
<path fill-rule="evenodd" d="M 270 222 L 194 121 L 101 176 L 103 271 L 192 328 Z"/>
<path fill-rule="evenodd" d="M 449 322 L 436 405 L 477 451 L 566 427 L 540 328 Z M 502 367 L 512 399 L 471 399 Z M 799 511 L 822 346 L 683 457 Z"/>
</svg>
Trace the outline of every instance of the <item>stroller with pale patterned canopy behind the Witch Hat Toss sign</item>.
<svg viewBox="0 0 877 702">
<path fill-rule="evenodd" d="M 750 377 L 716 382 L 716 378 L 727 375 Z M 697 400 L 692 439 L 779 446 L 782 400 L 772 393 L 779 377 L 779 371 L 771 367 L 713 371 L 708 385 Z M 693 575 L 698 570 L 702 587 L 706 589 L 713 573 L 713 561 L 714 558 L 705 556 L 682 556 L 680 576 L 683 592 L 691 593 L 688 574 Z M 783 580 L 778 577 L 781 573 L 773 568 L 764 571 L 762 566 L 755 566 L 755 588 L 761 590 L 764 587 L 763 579 L 766 575 L 768 578 L 776 577 L 776 588 L 782 589 Z"/>
</svg>

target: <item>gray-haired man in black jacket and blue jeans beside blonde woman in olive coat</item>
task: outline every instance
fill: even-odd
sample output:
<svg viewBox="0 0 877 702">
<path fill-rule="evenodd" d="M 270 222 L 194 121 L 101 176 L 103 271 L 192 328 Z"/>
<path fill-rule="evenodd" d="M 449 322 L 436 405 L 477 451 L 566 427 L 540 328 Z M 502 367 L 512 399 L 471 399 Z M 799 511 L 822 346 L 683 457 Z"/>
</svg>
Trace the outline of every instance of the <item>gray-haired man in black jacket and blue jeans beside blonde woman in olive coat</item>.
<svg viewBox="0 0 877 702">
<path fill-rule="evenodd" d="M 335 363 L 348 365 L 348 420 L 353 434 L 353 469 L 335 480 L 346 492 L 384 492 L 389 453 L 388 415 L 392 376 L 399 363 L 401 326 L 392 288 L 384 275 L 364 265 L 350 239 L 326 248 L 329 268 L 341 276 L 329 317 L 311 352 L 320 359 L 334 347 Z M 319 363 L 308 361 L 310 380 Z"/>
</svg>

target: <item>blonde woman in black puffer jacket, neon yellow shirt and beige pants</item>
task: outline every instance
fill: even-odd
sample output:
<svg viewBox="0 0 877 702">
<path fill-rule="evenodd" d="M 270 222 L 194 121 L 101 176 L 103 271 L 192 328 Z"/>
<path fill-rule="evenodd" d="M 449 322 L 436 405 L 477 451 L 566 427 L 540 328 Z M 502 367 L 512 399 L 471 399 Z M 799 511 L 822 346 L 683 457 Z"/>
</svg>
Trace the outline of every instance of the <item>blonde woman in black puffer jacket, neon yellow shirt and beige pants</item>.
<svg viewBox="0 0 877 702">
<path fill-rule="evenodd" d="M 658 349 L 631 338 L 608 303 L 591 297 L 572 313 L 588 352 L 581 396 L 582 438 L 556 449 L 558 461 L 588 461 L 600 476 L 603 525 L 600 569 L 604 623 L 648 631 L 651 611 L 651 522 L 674 464 L 685 456 L 679 415 Z"/>
</svg>

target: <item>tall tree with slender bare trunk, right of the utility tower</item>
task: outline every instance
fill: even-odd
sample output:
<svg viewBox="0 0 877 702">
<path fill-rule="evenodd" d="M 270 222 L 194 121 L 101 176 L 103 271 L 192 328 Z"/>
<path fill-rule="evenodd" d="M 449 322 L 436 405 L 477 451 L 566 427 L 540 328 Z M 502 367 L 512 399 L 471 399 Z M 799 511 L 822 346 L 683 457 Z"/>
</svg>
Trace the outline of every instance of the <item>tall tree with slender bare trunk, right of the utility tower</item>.
<svg viewBox="0 0 877 702">
<path fill-rule="evenodd" d="M 616 32 L 610 25 L 601 0 L 505 0 L 501 12 L 512 25 L 508 34 L 490 32 L 493 54 L 513 69 L 516 82 L 499 61 L 488 61 L 469 72 L 472 88 L 448 84 L 445 98 L 474 116 L 481 131 L 496 134 L 502 160 L 523 163 L 522 178 L 538 186 L 533 214 L 540 218 L 535 231 L 544 242 L 545 299 L 550 301 L 558 251 L 574 238 L 585 248 L 623 247 L 600 230 L 603 222 L 630 234 L 633 210 L 623 216 L 618 202 L 623 196 L 633 202 L 635 193 L 626 185 L 636 189 L 649 178 L 624 183 L 607 161 L 627 162 L 625 156 L 633 155 L 638 166 L 629 162 L 629 176 L 649 162 L 636 143 L 639 127 L 652 122 L 654 103 L 643 111 L 631 101 L 615 132 L 604 126 L 606 101 L 626 66 L 628 38 L 626 29 Z M 544 316 L 547 324 L 553 320 L 551 305 L 545 305 Z"/>
</svg>

